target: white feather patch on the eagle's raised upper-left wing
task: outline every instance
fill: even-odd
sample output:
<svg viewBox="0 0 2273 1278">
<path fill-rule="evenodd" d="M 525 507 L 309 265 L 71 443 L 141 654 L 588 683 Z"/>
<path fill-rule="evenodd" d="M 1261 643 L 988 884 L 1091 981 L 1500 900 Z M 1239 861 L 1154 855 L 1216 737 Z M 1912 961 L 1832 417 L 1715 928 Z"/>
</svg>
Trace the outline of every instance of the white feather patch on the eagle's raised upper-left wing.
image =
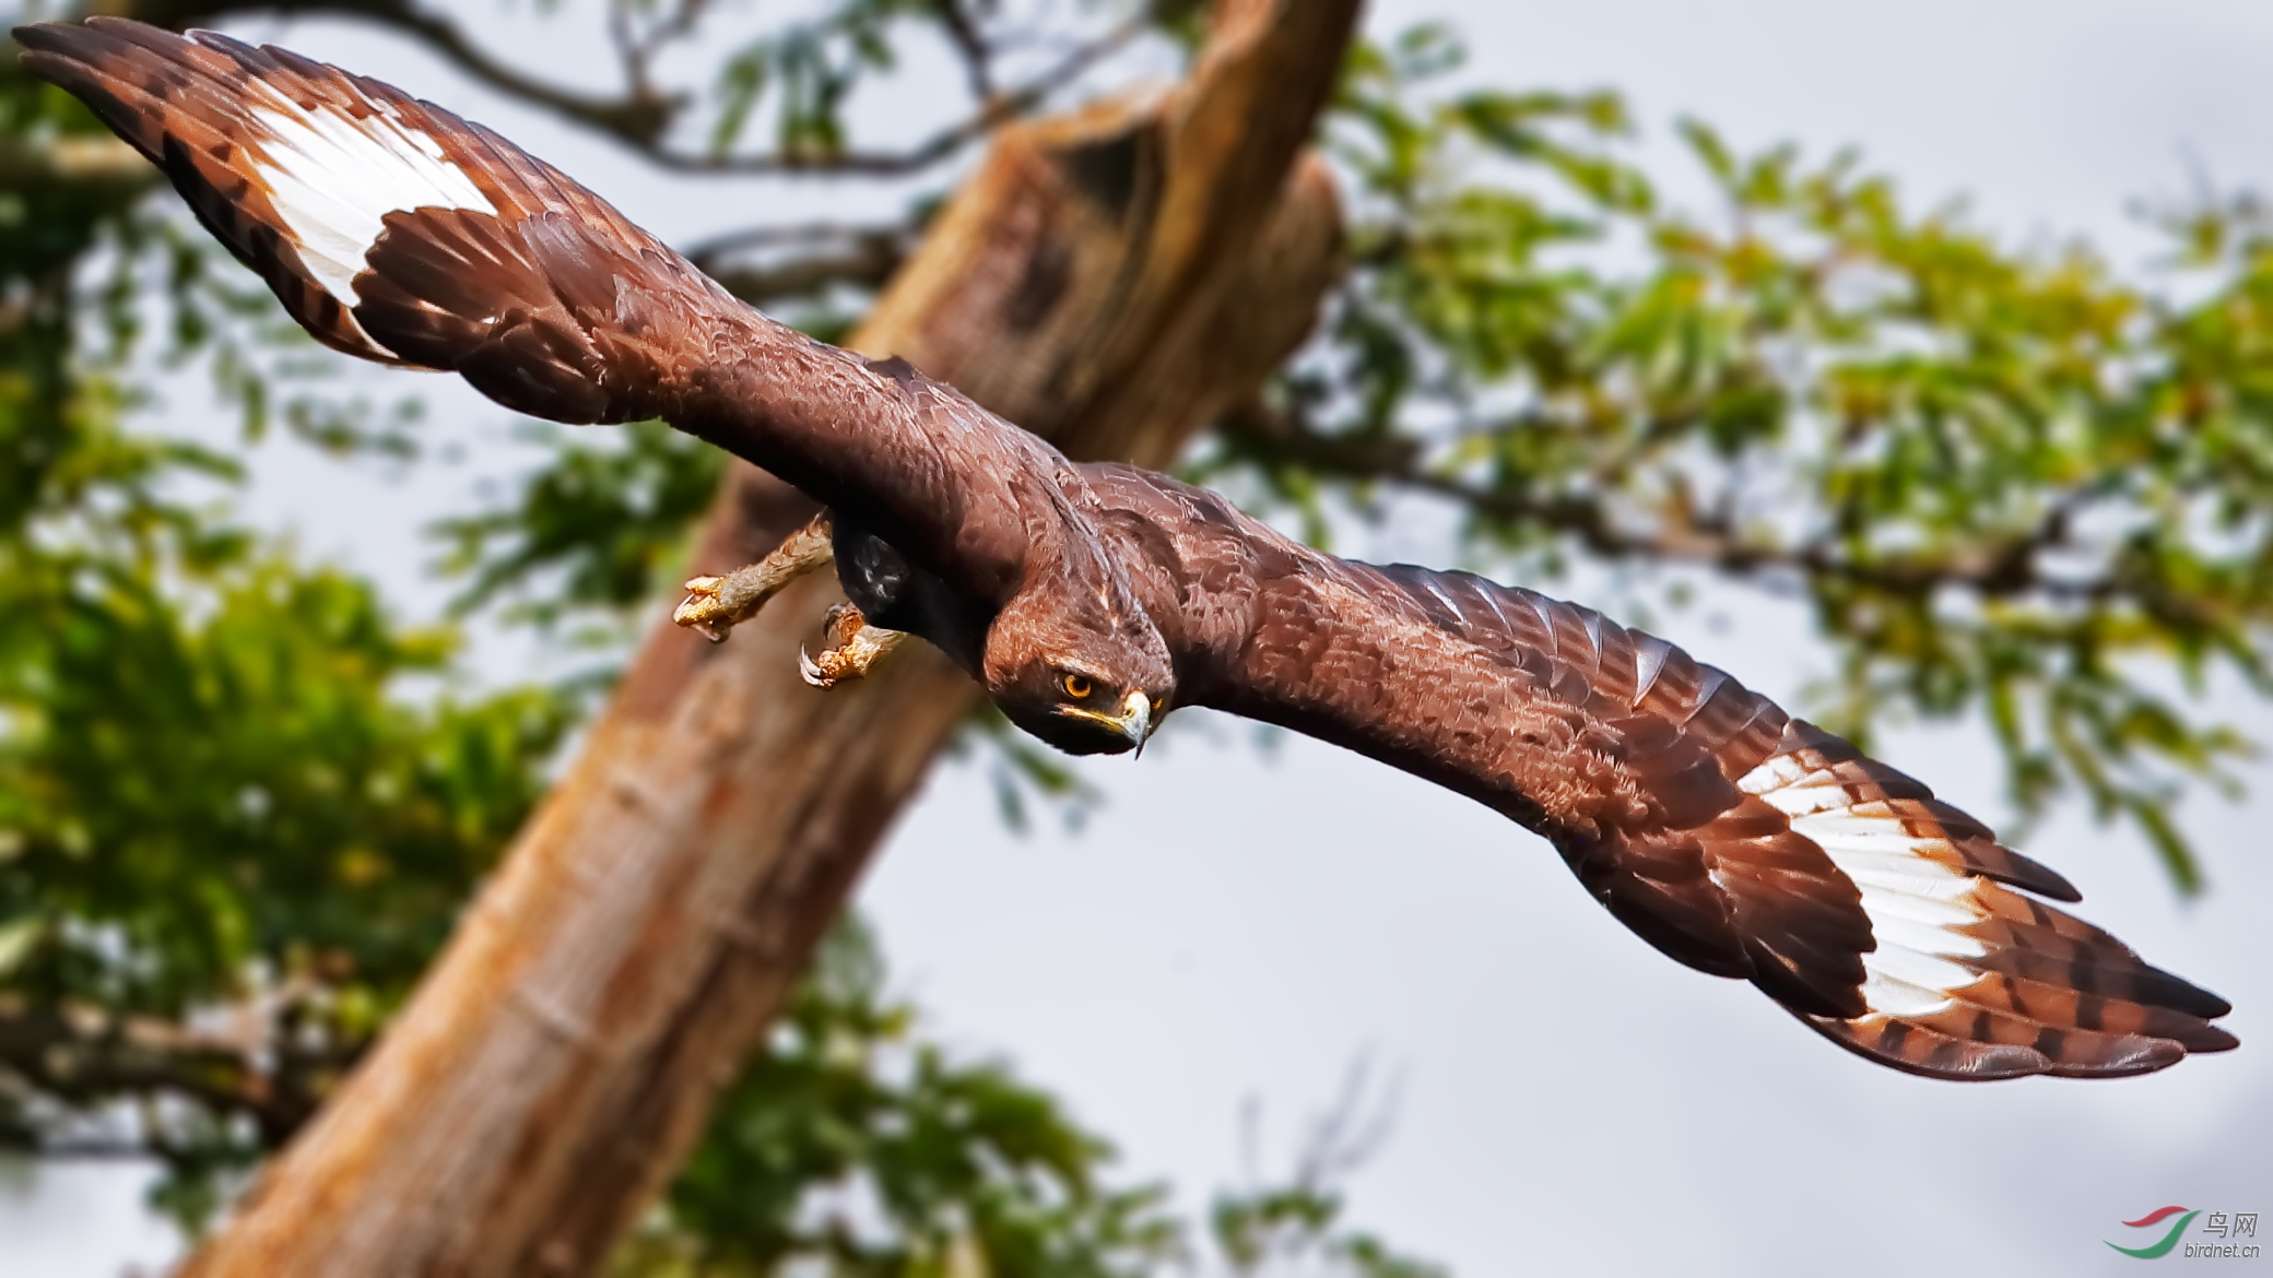
<svg viewBox="0 0 2273 1278">
<path fill-rule="evenodd" d="M 441 143 L 407 127 L 391 107 L 380 105 L 355 118 L 327 105 L 305 109 L 284 93 L 255 84 L 264 100 L 252 105 L 252 118 L 264 136 L 252 161 L 300 262 L 339 298 L 350 323 L 361 302 L 355 277 L 364 273 L 364 255 L 386 230 L 386 214 L 425 207 L 498 211 L 466 171 L 443 155 Z"/>
</svg>

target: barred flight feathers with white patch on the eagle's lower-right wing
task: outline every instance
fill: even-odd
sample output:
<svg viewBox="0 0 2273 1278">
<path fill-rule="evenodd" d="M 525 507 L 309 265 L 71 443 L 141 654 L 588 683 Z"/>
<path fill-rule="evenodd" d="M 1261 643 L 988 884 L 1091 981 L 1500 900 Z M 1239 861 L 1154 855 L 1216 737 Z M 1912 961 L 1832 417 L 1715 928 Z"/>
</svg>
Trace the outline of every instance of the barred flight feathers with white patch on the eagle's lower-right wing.
<svg viewBox="0 0 2273 1278">
<path fill-rule="evenodd" d="M 1730 789 L 1691 778 L 1714 796 L 1702 819 L 1684 800 L 1591 837 L 1548 823 L 1582 882 L 1675 957 L 1725 973 L 1664 939 L 1718 912 L 1743 976 L 1805 1023 L 1934 1078 L 2105 1078 L 2237 1046 L 2209 1023 L 2223 998 L 2039 901 L 2080 894 L 1841 737 L 1591 609 L 1466 573 L 1380 573 L 1432 625 L 1614 725 L 1639 766 L 1689 744 L 1714 760 Z M 1848 980 L 1850 998 L 1823 996 Z"/>
</svg>

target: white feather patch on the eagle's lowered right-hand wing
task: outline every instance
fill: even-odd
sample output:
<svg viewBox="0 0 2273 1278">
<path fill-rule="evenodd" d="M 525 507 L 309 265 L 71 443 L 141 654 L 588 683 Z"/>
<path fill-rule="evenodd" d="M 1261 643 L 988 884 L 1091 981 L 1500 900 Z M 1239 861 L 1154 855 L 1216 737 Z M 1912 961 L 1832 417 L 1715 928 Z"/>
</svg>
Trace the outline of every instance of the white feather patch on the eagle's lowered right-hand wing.
<svg viewBox="0 0 2273 1278">
<path fill-rule="evenodd" d="M 1900 816 L 1871 812 L 1830 771 L 1807 771 L 1777 755 L 1737 782 L 1791 819 L 1791 830 L 1818 848 L 1862 889 L 1877 948 L 1862 955 L 1862 996 L 1887 1016 L 1932 1016 L 1980 973 L 1950 960 L 1982 957 L 1987 946 L 1957 928 L 1980 923 L 1987 907 L 1982 880 L 1925 855 L 1953 850 L 1941 839 L 1912 835 Z"/>
</svg>

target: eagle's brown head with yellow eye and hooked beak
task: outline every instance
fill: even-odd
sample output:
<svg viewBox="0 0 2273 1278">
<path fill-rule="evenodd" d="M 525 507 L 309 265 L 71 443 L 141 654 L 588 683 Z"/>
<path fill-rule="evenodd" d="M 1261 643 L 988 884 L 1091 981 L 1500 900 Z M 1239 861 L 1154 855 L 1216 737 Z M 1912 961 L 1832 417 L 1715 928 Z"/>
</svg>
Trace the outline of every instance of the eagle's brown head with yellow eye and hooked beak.
<svg viewBox="0 0 2273 1278">
<path fill-rule="evenodd" d="M 986 628 L 986 694 L 1068 755 L 1139 750 L 1175 698 L 1168 644 L 1127 591 L 1027 589 Z"/>
</svg>

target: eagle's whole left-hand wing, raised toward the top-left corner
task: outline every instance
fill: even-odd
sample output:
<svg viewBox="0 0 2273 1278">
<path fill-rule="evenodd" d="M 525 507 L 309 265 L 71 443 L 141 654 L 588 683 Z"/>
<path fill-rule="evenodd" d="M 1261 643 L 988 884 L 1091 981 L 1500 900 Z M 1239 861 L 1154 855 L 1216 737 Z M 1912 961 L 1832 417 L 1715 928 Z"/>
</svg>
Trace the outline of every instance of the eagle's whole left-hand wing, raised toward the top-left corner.
<svg viewBox="0 0 2273 1278">
<path fill-rule="evenodd" d="M 1057 455 L 905 362 L 809 341 L 605 200 L 400 89 L 214 32 L 18 27 L 25 66 L 166 171 L 318 341 L 566 423 L 661 416 L 975 598 Z M 848 428 L 857 425 L 857 428 Z"/>
</svg>

